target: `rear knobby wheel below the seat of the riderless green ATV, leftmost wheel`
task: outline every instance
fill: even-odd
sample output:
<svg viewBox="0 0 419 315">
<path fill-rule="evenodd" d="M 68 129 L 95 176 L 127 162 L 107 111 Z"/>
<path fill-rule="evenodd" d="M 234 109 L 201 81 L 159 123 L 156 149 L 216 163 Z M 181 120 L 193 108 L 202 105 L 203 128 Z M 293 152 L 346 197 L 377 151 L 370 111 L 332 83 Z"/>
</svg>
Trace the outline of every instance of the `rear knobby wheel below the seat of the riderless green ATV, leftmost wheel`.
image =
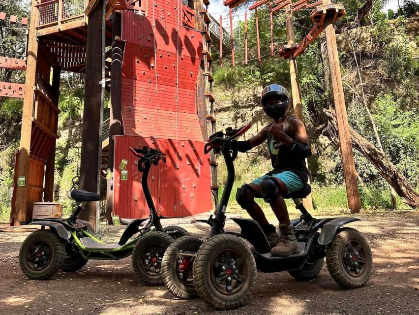
<svg viewBox="0 0 419 315">
<path fill-rule="evenodd" d="M 19 251 L 20 268 L 32 280 L 54 276 L 61 269 L 64 258 L 64 243 L 55 232 L 45 229 L 28 235 Z"/>
</svg>

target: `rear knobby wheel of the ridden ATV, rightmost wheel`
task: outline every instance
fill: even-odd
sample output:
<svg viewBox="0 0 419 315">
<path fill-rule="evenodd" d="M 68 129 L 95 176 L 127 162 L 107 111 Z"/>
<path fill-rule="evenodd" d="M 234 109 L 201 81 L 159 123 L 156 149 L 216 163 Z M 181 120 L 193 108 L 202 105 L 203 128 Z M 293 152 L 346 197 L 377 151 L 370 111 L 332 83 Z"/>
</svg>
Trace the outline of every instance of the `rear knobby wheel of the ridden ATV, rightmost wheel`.
<svg viewBox="0 0 419 315">
<path fill-rule="evenodd" d="M 356 257 L 351 254 L 356 253 Z M 348 289 L 367 283 L 372 269 L 371 249 L 365 238 L 353 228 L 341 230 L 326 250 L 326 263 L 333 280 Z M 358 267 L 355 265 L 358 263 Z"/>
</svg>

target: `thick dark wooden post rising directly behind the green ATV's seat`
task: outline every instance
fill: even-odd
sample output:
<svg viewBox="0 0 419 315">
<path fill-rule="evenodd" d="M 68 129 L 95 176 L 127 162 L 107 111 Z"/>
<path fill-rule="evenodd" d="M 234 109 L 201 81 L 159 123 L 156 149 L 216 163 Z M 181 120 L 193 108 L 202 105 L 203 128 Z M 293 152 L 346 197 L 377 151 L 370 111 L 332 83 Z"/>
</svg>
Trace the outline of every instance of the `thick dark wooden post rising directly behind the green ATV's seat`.
<svg viewBox="0 0 419 315">
<path fill-rule="evenodd" d="M 100 156 L 103 119 L 102 71 L 104 65 L 103 36 L 105 32 L 105 0 L 90 11 L 86 47 L 85 106 L 83 110 L 82 153 L 80 158 L 80 188 L 100 192 Z M 89 202 L 80 218 L 97 228 L 98 202 Z"/>
</svg>

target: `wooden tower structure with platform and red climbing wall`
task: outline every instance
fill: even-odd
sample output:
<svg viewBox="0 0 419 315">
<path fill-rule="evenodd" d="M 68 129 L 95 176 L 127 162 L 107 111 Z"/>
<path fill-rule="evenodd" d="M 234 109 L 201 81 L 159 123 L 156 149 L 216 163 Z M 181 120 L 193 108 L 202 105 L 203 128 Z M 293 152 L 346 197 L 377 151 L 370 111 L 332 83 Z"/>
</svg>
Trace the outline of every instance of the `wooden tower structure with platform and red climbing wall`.
<svg viewBox="0 0 419 315">
<path fill-rule="evenodd" d="M 16 181 L 24 180 L 13 195 L 12 224 L 31 221 L 34 202 L 52 201 L 63 71 L 86 74 L 81 188 L 96 190 L 99 176 L 107 178 L 109 213 L 147 217 L 141 175 L 128 151 L 147 145 L 167 154 L 166 164 L 152 168 L 149 183 L 161 215 L 212 208 L 216 163 L 203 150 L 215 128 L 210 34 L 223 42 L 208 5 L 209 0 L 32 0 L 15 167 Z M 101 117 L 101 90 L 111 94 L 107 121 Z M 93 211 L 85 218 L 97 221 Z"/>
</svg>

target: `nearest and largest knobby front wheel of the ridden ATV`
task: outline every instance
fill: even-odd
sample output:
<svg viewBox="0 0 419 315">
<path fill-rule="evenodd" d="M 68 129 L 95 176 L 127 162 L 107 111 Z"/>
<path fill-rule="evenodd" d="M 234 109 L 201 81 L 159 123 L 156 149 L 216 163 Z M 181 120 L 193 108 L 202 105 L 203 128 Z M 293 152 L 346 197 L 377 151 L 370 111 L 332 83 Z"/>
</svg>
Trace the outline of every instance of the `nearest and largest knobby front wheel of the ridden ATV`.
<svg viewBox="0 0 419 315">
<path fill-rule="evenodd" d="M 220 263 L 221 258 L 224 258 L 223 263 Z M 233 265 L 237 265 L 234 271 Z M 231 275 L 229 282 L 226 274 Z M 256 263 L 253 254 L 235 235 L 219 234 L 210 238 L 195 257 L 195 288 L 205 303 L 217 310 L 231 310 L 242 306 L 253 291 L 255 278 Z M 228 292 L 229 288 L 231 292 Z"/>
</svg>

